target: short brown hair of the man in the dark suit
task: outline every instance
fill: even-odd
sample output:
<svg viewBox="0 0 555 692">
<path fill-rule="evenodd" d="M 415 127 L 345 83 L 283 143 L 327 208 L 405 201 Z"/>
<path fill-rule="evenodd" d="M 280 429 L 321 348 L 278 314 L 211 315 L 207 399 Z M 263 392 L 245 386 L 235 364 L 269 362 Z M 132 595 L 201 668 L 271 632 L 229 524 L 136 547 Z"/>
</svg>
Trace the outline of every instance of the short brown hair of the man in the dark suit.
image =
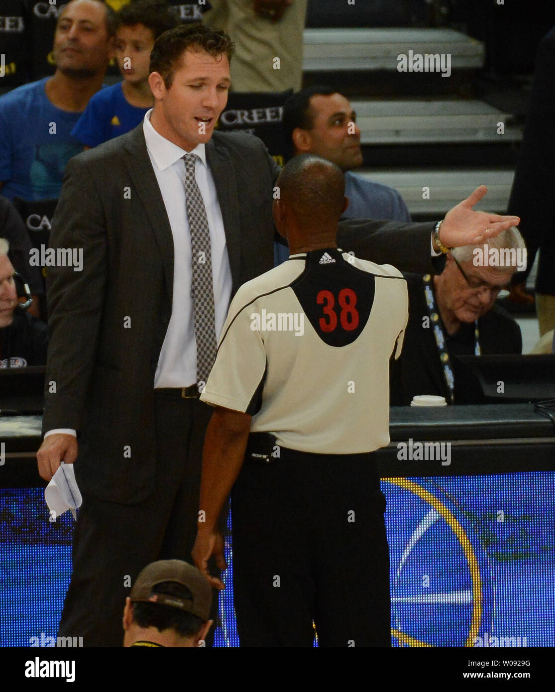
<svg viewBox="0 0 555 692">
<path fill-rule="evenodd" d="M 162 75 L 166 89 L 170 89 L 174 73 L 179 69 L 183 53 L 192 48 L 194 51 L 205 51 L 213 57 L 227 55 L 231 62 L 233 42 L 223 31 L 204 26 L 204 24 L 181 24 L 163 33 L 154 44 L 150 54 L 150 72 Z"/>
</svg>

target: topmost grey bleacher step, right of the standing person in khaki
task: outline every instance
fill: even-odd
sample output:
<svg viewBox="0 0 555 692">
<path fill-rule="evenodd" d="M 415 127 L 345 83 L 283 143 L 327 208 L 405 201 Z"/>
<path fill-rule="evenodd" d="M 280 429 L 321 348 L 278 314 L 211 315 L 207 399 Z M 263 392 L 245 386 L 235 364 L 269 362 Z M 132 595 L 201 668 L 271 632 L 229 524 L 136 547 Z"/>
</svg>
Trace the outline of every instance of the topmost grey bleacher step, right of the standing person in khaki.
<svg viewBox="0 0 555 692">
<path fill-rule="evenodd" d="M 449 28 L 305 29 L 305 72 L 398 71 L 397 56 L 451 56 L 451 69 L 480 69 L 484 44 Z"/>
</svg>

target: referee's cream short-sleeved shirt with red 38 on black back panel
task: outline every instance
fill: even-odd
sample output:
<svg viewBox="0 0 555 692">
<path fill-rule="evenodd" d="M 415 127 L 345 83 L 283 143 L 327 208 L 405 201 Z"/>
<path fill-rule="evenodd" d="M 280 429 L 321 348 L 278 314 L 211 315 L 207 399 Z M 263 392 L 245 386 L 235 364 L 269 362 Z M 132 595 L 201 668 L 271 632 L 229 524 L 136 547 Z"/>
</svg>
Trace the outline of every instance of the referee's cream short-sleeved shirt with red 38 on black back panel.
<svg viewBox="0 0 555 692">
<path fill-rule="evenodd" d="M 407 320 L 393 266 L 291 255 L 237 291 L 201 401 L 250 413 L 251 432 L 285 448 L 372 452 L 390 441 L 389 359 Z"/>
</svg>

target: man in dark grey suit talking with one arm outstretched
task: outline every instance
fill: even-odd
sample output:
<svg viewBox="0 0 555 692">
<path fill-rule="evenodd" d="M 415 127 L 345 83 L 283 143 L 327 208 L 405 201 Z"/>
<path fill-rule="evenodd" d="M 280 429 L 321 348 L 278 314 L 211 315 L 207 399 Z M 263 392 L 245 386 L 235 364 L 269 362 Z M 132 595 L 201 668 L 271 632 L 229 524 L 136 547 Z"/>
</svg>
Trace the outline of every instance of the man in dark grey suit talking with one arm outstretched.
<svg viewBox="0 0 555 692">
<path fill-rule="evenodd" d="M 121 645 L 122 603 L 147 563 L 191 559 L 211 415 L 199 392 L 230 298 L 273 266 L 280 169 L 257 138 L 214 131 L 232 51 L 229 37 L 200 25 L 158 38 L 154 109 L 69 162 L 53 219 L 53 248 L 82 248 L 83 271 L 48 272 L 47 435 L 37 458 L 49 480 L 79 451 L 83 504 L 59 632 L 85 646 Z M 473 212 L 484 193 L 448 213 L 442 242 L 518 222 Z M 363 258 L 443 268 L 431 258 L 433 224 L 340 228 L 341 247 Z"/>
</svg>

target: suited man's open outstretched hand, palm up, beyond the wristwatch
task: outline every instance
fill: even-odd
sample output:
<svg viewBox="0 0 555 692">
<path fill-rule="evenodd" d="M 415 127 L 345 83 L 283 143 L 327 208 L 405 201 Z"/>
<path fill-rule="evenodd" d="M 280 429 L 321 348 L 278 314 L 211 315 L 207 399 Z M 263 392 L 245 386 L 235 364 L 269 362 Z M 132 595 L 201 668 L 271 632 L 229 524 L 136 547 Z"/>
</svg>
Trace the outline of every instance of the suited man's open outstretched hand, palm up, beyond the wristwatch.
<svg viewBox="0 0 555 692">
<path fill-rule="evenodd" d="M 479 245 L 495 238 L 502 230 L 520 223 L 518 217 L 498 216 L 488 212 L 475 212 L 473 206 L 479 202 L 488 191 L 485 185 L 476 188 L 457 206 L 450 209 L 444 222 L 439 228 L 439 239 L 448 248 L 458 248 L 462 245 Z"/>
</svg>

